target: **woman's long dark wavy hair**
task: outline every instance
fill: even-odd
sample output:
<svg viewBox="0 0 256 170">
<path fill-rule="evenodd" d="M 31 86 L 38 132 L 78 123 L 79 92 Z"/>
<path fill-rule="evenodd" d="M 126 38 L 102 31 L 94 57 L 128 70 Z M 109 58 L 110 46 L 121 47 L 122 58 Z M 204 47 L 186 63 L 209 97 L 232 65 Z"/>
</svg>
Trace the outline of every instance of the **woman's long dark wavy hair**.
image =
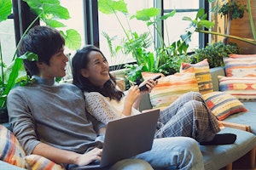
<svg viewBox="0 0 256 170">
<path fill-rule="evenodd" d="M 115 77 L 113 77 L 109 72 L 110 79 L 105 82 L 103 88 L 96 87 L 93 85 L 86 77 L 81 74 L 82 69 L 86 69 L 89 63 L 89 54 L 91 51 L 96 51 L 102 54 L 99 48 L 93 45 L 87 45 L 84 48 L 77 51 L 72 59 L 72 74 L 73 74 L 73 84 L 79 87 L 83 92 L 98 92 L 105 97 L 110 99 L 120 100 L 124 93 L 119 91 L 116 86 Z M 105 56 L 102 54 L 105 58 Z M 105 58 L 106 59 L 106 58 Z"/>
</svg>

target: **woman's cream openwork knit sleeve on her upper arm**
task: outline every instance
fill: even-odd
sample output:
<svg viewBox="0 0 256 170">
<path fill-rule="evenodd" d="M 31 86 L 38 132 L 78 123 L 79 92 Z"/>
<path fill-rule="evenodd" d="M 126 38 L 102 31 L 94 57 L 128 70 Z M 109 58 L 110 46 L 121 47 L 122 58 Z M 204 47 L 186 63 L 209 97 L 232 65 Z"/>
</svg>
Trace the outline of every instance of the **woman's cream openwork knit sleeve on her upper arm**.
<svg viewBox="0 0 256 170">
<path fill-rule="evenodd" d="M 107 124 L 109 121 L 121 116 L 102 94 L 90 92 L 84 93 L 84 96 L 86 110 L 89 111 L 97 121 Z"/>
</svg>

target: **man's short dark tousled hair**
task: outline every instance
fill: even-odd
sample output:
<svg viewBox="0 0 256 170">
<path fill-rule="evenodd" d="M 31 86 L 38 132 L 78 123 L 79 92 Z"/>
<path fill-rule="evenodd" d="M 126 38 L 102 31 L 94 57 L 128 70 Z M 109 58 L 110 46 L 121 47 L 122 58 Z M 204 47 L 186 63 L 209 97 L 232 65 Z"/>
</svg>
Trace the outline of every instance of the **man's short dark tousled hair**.
<svg viewBox="0 0 256 170">
<path fill-rule="evenodd" d="M 23 55 L 26 52 L 38 54 L 38 62 L 49 65 L 49 59 L 64 45 L 65 40 L 61 36 L 60 31 L 49 26 L 34 26 L 21 41 L 19 54 Z M 31 75 L 39 73 L 35 61 L 25 59 L 24 65 Z"/>
</svg>

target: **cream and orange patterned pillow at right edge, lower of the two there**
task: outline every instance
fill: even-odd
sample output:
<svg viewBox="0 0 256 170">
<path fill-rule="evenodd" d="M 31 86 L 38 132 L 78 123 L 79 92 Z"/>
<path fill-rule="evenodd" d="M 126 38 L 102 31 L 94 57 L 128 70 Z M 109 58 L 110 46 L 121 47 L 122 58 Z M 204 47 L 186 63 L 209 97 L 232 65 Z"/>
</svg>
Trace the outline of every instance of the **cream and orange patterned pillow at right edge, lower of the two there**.
<svg viewBox="0 0 256 170">
<path fill-rule="evenodd" d="M 232 94 L 241 101 L 256 101 L 256 77 L 218 76 L 219 91 Z"/>
</svg>

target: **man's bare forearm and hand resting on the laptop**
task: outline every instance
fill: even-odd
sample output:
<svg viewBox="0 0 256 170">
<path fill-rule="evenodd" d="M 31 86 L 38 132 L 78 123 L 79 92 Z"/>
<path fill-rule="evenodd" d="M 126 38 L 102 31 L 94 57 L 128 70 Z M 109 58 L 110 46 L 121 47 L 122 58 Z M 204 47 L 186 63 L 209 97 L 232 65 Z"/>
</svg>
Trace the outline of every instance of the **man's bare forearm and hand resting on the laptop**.
<svg viewBox="0 0 256 170">
<path fill-rule="evenodd" d="M 91 161 L 101 160 L 102 149 L 95 148 L 84 154 L 78 154 L 69 150 L 60 150 L 49 144 L 39 143 L 32 154 L 44 156 L 55 163 L 87 165 Z"/>
</svg>

